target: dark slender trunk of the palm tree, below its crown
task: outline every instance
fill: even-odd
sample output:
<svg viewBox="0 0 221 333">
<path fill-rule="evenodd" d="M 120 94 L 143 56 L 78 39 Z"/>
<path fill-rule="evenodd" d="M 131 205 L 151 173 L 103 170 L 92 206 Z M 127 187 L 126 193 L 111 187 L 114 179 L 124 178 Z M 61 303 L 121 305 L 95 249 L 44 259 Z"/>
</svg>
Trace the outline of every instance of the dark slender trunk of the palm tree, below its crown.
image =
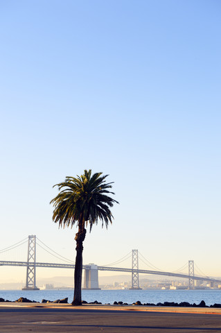
<svg viewBox="0 0 221 333">
<path fill-rule="evenodd" d="M 81 305 L 81 284 L 82 284 L 82 252 L 83 241 L 85 240 L 86 229 L 78 230 L 76 240 L 76 266 L 74 269 L 74 295 L 72 305 Z"/>
</svg>

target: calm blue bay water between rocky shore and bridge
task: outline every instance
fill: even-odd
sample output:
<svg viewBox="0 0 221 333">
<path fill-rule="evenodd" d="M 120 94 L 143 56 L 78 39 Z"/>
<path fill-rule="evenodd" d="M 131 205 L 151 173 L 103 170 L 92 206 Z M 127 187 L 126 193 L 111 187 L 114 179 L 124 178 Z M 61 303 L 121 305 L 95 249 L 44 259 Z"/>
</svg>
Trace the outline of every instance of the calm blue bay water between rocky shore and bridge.
<svg viewBox="0 0 221 333">
<path fill-rule="evenodd" d="M 42 302 L 46 300 L 58 300 L 69 298 L 70 303 L 73 300 L 73 291 L 71 290 L 1 290 L 0 297 L 5 300 L 17 300 L 19 297 L 26 297 L 29 300 Z M 87 302 L 110 303 L 116 300 L 132 304 L 136 300 L 141 303 L 158 303 L 158 302 L 190 302 L 200 303 L 201 300 L 206 302 L 206 305 L 221 303 L 221 290 L 82 290 L 82 300 Z"/>
</svg>

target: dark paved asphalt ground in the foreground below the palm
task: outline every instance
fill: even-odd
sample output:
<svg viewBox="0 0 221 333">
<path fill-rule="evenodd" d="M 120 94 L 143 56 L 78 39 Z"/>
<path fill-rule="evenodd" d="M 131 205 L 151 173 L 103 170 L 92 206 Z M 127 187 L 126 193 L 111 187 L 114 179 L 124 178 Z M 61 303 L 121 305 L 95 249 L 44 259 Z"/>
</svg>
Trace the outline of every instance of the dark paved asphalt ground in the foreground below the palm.
<svg viewBox="0 0 221 333">
<path fill-rule="evenodd" d="M 221 333 L 221 315 L 1 306 L 5 332 Z"/>
</svg>

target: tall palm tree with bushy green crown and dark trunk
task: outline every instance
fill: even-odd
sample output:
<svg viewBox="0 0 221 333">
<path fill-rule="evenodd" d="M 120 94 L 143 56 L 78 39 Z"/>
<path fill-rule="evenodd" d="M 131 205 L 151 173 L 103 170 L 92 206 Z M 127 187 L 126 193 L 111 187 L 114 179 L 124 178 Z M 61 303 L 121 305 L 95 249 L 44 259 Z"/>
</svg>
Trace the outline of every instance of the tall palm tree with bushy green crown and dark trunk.
<svg viewBox="0 0 221 333">
<path fill-rule="evenodd" d="M 86 229 L 91 228 L 98 220 L 102 221 L 102 227 L 105 223 L 112 223 L 112 212 L 109 207 L 118 203 L 108 194 L 114 194 L 109 191 L 113 182 L 105 182 L 108 176 L 101 176 L 102 172 L 91 175 L 91 170 L 85 170 L 82 176 L 66 177 L 64 182 L 56 184 L 60 193 L 55 196 L 53 203 L 53 221 L 59 223 L 59 227 L 78 226 L 76 233 L 76 265 L 74 271 L 74 296 L 72 305 L 81 305 L 81 284 L 82 284 L 82 250 L 85 240 Z"/>
</svg>

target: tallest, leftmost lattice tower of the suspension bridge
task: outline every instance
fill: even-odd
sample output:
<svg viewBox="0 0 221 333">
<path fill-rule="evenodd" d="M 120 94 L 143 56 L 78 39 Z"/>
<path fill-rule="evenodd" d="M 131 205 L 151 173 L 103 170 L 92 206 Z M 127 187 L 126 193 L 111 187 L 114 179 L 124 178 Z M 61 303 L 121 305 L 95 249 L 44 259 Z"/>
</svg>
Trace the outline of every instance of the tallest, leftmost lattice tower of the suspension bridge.
<svg viewBox="0 0 221 333">
<path fill-rule="evenodd" d="M 26 287 L 22 290 L 39 290 L 36 287 L 35 279 L 35 259 L 36 259 L 36 236 L 28 236 L 28 260 L 27 260 L 27 271 L 26 271 Z"/>
</svg>

